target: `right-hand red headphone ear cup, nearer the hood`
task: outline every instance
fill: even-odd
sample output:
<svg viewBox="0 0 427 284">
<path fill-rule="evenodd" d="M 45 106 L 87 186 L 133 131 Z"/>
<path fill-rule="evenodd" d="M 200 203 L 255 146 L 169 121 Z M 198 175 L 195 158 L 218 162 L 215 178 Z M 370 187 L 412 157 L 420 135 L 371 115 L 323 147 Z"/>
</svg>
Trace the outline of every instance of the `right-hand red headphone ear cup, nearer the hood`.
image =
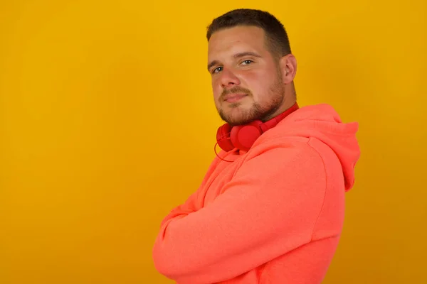
<svg viewBox="0 0 427 284">
<path fill-rule="evenodd" d="M 240 150 L 249 151 L 256 139 L 263 133 L 260 129 L 261 124 L 263 124 L 262 121 L 255 120 L 250 124 L 234 126 L 230 133 L 231 143 Z"/>
</svg>

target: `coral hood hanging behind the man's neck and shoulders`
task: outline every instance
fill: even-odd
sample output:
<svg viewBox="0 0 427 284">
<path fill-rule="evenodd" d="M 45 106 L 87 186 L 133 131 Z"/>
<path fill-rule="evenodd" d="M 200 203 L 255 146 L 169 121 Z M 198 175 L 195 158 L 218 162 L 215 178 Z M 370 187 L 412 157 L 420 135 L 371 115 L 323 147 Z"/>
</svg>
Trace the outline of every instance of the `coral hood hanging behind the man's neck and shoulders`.
<svg viewBox="0 0 427 284">
<path fill-rule="evenodd" d="M 300 107 L 280 121 L 274 131 L 271 129 L 266 133 L 280 137 L 317 138 L 325 143 L 339 158 L 347 192 L 354 185 L 354 167 L 360 156 L 356 138 L 358 129 L 357 122 L 343 123 L 337 111 L 329 104 L 316 104 Z M 272 138 L 270 134 L 268 136 Z"/>
</svg>

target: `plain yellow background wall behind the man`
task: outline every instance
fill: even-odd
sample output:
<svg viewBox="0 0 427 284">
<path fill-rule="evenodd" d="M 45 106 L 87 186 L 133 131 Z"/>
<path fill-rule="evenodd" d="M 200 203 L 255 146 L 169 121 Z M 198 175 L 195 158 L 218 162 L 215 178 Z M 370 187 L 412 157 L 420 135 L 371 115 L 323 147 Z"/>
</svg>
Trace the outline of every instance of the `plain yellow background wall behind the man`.
<svg viewBox="0 0 427 284">
<path fill-rule="evenodd" d="M 359 121 L 324 283 L 427 283 L 426 1 L 0 2 L 0 283 L 171 283 L 152 264 L 222 123 L 206 26 L 271 11 L 300 105 Z"/>
</svg>

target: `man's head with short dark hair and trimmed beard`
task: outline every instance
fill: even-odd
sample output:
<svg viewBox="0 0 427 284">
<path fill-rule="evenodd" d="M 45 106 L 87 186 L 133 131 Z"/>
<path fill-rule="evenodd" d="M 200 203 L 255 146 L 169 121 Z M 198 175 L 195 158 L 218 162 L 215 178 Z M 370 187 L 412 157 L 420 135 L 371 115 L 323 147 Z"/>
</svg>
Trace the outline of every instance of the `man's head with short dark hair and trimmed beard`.
<svg viewBox="0 0 427 284">
<path fill-rule="evenodd" d="M 231 125 L 267 121 L 295 103 L 297 68 L 283 25 L 270 13 L 237 9 L 208 28 L 216 109 Z"/>
</svg>

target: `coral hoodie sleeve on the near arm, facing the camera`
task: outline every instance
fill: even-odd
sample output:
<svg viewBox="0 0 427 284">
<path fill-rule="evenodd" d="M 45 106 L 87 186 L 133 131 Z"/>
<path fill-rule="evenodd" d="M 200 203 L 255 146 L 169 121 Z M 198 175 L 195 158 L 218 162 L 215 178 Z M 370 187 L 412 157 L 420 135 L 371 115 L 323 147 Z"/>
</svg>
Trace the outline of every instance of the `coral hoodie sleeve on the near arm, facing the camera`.
<svg viewBox="0 0 427 284">
<path fill-rule="evenodd" d="M 307 244 L 325 197 L 325 166 L 310 146 L 247 160 L 206 207 L 177 207 L 154 242 L 154 266 L 179 284 L 234 278 Z"/>
</svg>

